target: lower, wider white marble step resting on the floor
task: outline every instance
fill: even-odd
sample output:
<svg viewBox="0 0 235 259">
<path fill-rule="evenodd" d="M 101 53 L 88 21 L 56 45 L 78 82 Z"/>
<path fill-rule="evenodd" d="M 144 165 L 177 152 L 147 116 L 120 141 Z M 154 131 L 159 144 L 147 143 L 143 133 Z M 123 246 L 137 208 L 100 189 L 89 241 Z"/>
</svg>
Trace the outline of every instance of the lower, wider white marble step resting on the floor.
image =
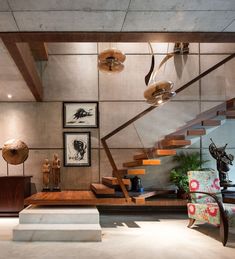
<svg viewBox="0 0 235 259">
<path fill-rule="evenodd" d="M 19 224 L 13 229 L 14 241 L 97 242 L 101 235 L 99 224 Z"/>
</svg>

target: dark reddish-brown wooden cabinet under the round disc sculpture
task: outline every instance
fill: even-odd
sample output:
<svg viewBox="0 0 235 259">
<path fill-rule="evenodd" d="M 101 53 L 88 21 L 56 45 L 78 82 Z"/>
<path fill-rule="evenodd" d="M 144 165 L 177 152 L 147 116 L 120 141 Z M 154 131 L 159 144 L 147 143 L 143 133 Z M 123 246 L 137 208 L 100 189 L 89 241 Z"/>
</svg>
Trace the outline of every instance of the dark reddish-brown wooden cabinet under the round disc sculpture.
<svg viewBox="0 0 235 259">
<path fill-rule="evenodd" d="M 31 195 L 32 176 L 0 177 L 0 216 L 17 216 Z"/>
</svg>

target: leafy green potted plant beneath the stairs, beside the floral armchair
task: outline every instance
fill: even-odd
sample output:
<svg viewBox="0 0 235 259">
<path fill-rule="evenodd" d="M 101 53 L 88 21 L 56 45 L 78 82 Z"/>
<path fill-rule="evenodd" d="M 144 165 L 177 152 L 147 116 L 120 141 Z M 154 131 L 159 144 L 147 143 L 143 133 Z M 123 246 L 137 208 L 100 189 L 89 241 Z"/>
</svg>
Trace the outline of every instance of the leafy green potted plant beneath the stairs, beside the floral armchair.
<svg viewBox="0 0 235 259">
<path fill-rule="evenodd" d="M 207 161 L 201 160 L 198 152 L 181 152 L 174 157 L 174 161 L 178 162 L 178 165 L 171 170 L 170 180 L 178 187 L 177 197 L 186 199 L 189 191 L 187 172 L 205 170 L 201 166 Z"/>
</svg>

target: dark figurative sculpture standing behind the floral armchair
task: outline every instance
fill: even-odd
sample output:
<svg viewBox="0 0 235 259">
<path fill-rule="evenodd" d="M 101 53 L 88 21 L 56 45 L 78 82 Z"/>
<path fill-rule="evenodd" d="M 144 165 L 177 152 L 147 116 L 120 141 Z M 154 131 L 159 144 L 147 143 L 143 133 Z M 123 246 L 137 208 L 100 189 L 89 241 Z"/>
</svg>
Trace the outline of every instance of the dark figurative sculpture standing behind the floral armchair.
<svg viewBox="0 0 235 259">
<path fill-rule="evenodd" d="M 212 143 L 209 145 L 209 151 L 212 157 L 216 159 L 216 167 L 219 172 L 220 184 L 224 187 L 229 186 L 231 181 L 228 178 L 228 171 L 229 165 L 233 165 L 232 161 L 234 156 L 225 152 L 228 144 L 217 148 L 213 140 L 210 140 Z"/>
</svg>

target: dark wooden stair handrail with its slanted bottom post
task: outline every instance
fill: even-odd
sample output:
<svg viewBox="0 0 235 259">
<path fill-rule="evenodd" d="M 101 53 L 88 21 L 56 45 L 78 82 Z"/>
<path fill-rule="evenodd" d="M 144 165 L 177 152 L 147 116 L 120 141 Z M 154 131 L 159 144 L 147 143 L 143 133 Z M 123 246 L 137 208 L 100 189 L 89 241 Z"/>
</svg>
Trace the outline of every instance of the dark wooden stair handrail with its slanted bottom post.
<svg viewBox="0 0 235 259">
<path fill-rule="evenodd" d="M 178 88 L 175 92 L 176 93 L 180 93 L 182 92 L 184 89 L 186 89 L 187 87 L 189 87 L 190 85 L 192 85 L 193 83 L 197 82 L 198 80 L 200 80 L 201 78 L 205 77 L 206 75 L 208 75 L 209 73 L 211 73 L 212 71 L 214 71 L 215 69 L 217 69 L 218 67 L 222 66 L 223 64 L 225 64 L 226 62 L 228 62 L 229 60 L 233 59 L 235 57 L 235 53 L 231 54 L 230 56 L 226 57 L 225 59 L 221 60 L 220 62 L 216 63 L 214 66 L 210 67 L 209 69 L 207 69 L 206 71 L 204 71 L 203 73 L 201 73 L 200 75 L 196 76 L 195 78 L 193 78 L 192 80 L 190 80 L 189 82 L 187 82 L 186 84 L 182 85 L 180 88 Z M 141 117 L 143 117 L 144 115 L 146 115 L 147 113 L 149 113 L 150 111 L 152 111 L 153 109 L 157 108 L 158 106 L 150 106 L 149 108 L 145 109 L 144 111 L 142 111 L 141 113 L 137 114 L 135 117 L 133 117 L 132 119 L 128 120 L 127 122 L 125 122 L 124 124 L 122 124 L 121 126 L 119 126 L 118 128 L 116 128 L 115 130 L 113 130 L 112 132 L 110 132 L 109 134 L 107 134 L 106 136 L 104 136 L 103 138 L 101 138 L 101 142 L 103 144 L 104 147 L 104 151 L 108 157 L 108 160 L 112 166 L 113 172 L 115 174 L 115 176 L 119 176 L 117 177 L 118 182 L 120 184 L 121 190 L 123 192 L 123 194 L 125 195 L 126 200 L 128 200 L 130 197 L 128 195 L 128 192 L 126 190 L 125 185 L 123 184 L 121 177 L 118 173 L 118 168 L 117 165 L 113 159 L 113 156 L 110 152 L 109 146 L 107 144 L 107 139 L 111 138 L 112 136 L 116 135 L 118 132 L 120 132 L 121 130 L 123 130 L 124 128 L 126 128 L 127 126 L 129 126 L 131 123 L 135 122 L 136 120 L 140 119 Z"/>
</svg>

